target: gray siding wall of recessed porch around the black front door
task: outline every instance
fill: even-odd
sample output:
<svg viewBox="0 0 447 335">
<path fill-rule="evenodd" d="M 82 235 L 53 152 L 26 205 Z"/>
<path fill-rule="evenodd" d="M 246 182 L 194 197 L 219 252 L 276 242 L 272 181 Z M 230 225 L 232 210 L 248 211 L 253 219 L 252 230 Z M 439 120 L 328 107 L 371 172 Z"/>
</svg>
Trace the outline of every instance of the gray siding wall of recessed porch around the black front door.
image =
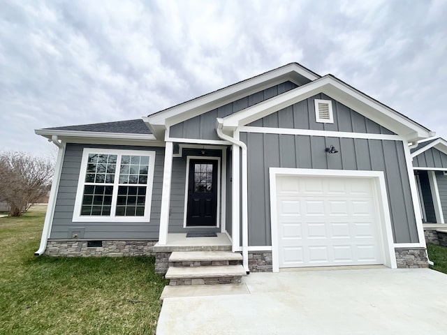
<svg viewBox="0 0 447 335">
<path fill-rule="evenodd" d="M 171 178 L 170 188 L 170 213 L 169 213 L 169 230 L 170 233 L 185 232 L 183 228 L 184 222 L 184 197 L 186 187 L 186 157 L 201 156 L 201 149 L 183 149 L 182 157 L 173 158 L 173 174 Z M 206 149 L 206 156 L 221 157 L 221 150 Z M 222 163 L 222 162 L 221 162 Z M 221 174 L 222 176 L 222 174 Z M 221 182 L 222 188 L 222 182 Z M 222 208 L 222 207 L 220 207 Z M 200 230 L 219 232 L 220 228 L 188 228 L 188 231 Z"/>
</svg>

